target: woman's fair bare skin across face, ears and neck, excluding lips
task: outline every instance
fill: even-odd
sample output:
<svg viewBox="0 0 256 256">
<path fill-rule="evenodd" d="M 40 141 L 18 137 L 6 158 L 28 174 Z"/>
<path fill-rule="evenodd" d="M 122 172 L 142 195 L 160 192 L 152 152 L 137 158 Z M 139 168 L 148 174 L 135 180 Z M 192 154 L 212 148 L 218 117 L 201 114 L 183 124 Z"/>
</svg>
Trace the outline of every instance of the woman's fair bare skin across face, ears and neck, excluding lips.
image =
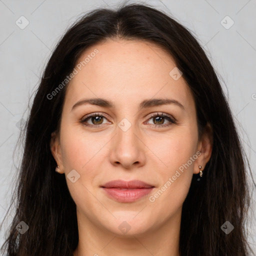
<svg viewBox="0 0 256 256">
<path fill-rule="evenodd" d="M 177 256 L 182 203 L 198 165 L 210 158 L 210 129 L 197 134 L 195 103 L 185 80 L 174 80 L 176 66 L 169 54 L 152 43 L 107 40 L 87 48 L 77 63 L 95 48 L 98 53 L 68 84 L 58 136 L 52 133 L 51 152 L 65 176 L 74 169 L 80 178 L 66 176 L 76 204 L 79 241 L 74 256 L 144 255 Z M 92 104 L 72 106 L 84 98 L 111 100 L 114 108 Z M 171 98 L 177 104 L 139 109 L 144 99 Z M 150 113 L 166 113 L 156 120 Z M 105 115 L 100 121 L 86 114 Z M 159 115 L 158 115 L 159 116 Z M 118 123 L 126 118 L 131 126 L 123 131 Z M 93 123 L 94 120 L 94 123 Z M 170 124 L 157 127 L 161 124 Z M 176 170 L 200 152 L 173 183 L 153 202 L 149 200 Z M 150 194 L 134 202 L 107 197 L 101 185 L 113 179 L 139 179 L 155 186 Z M 130 230 L 118 226 L 126 221 Z"/>
</svg>

